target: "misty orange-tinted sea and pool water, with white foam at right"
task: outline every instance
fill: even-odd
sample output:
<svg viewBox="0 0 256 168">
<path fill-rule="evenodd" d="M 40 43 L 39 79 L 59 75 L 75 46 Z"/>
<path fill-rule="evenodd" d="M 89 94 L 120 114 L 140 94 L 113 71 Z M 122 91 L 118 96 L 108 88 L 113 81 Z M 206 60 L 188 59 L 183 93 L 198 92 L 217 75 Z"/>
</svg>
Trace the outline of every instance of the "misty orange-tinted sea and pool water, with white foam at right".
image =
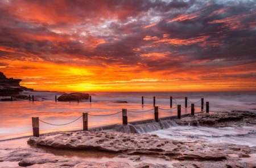
<svg viewBox="0 0 256 168">
<path fill-rule="evenodd" d="M 122 109 L 128 110 L 128 120 L 144 120 L 154 118 L 153 97 L 156 97 L 156 106 L 159 106 L 159 117 L 168 117 L 177 114 L 177 109 L 170 109 L 170 96 L 173 97 L 172 105 L 175 107 L 180 104 L 184 107 L 184 97 L 188 97 L 188 106 L 191 102 L 196 103 L 195 111 L 200 111 L 201 98 L 204 102 L 209 101 L 210 111 L 230 111 L 230 110 L 249 110 L 256 111 L 256 93 L 255 92 L 93 92 L 92 102 L 88 100 L 81 102 L 55 102 L 55 95 L 60 96 L 63 93 L 58 92 L 24 92 L 22 94 L 35 95 L 38 101 L 9 101 L 0 102 L 0 140 L 12 139 L 21 136 L 32 135 L 31 117 L 39 117 L 46 124 L 40 122 L 40 133 L 52 131 L 71 131 L 81 130 L 82 119 L 79 118 L 82 112 L 88 112 L 92 115 L 108 115 L 118 113 Z M 144 105 L 141 104 L 141 96 L 144 96 Z M 127 103 L 116 103 L 115 101 L 127 101 Z M 205 107 L 204 107 L 205 108 Z M 150 111 L 147 111 L 150 110 Z M 133 112 L 130 112 L 133 111 Z M 147 111 L 144 113 L 135 113 L 139 111 Z M 190 109 L 181 109 L 182 114 L 191 113 Z M 78 120 L 76 120 L 79 118 Z M 65 124 L 72 122 L 68 125 L 55 126 L 54 124 Z M 91 116 L 89 115 L 89 127 L 105 126 L 109 124 L 122 123 L 122 113 L 109 116 Z M 200 139 L 213 140 L 213 136 L 218 136 L 218 128 L 213 131 L 212 135 L 201 135 L 209 132 L 210 128 L 207 127 L 188 127 L 188 126 L 173 126 L 164 130 L 158 130 L 156 127 L 151 126 L 141 129 L 141 133 L 152 132 L 162 137 L 170 139 Z M 145 131 L 146 129 L 146 131 Z M 205 130 L 204 130 L 205 129 Z M 231 128 L 226 128 L 232 130 Z M 255 128 L 241 128 L 243 133 L 246 134 Z M 184 135 L 184 131 L 187 132 Z M 196 130 L 196 131 L 195 131 Z M 223 130 L 221 130 L 223 131 Z M 180 135 L 177 135 L 180 132 Z M 195 135 L 195 132 L 197 134 Z M 233 130 L 237 132 L 237 130 Z M 187 135 L 188 134 L 188 135 Z M 253 133 L 251 133 L 253 134 Z M 233 139 L 233 136 L 225 136 L 225 139 Z M 216 139 L 217 140 L 217 139 Z M 226 140 L 228 141 L 228 140 Z M 238 143 L 240 140 L 235 139 Z M 250 141 L 250 140 L 249 140 Z M 249 144 L 255 145 L 255 144 Z"/>
</svg>

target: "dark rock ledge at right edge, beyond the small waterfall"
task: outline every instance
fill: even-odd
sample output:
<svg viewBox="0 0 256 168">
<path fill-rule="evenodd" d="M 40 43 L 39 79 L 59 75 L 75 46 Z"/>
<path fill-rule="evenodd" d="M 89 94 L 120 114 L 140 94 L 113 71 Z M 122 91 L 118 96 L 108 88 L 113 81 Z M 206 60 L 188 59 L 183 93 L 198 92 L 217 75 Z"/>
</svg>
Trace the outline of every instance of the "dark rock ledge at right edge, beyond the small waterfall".
<svg viewBox="0 0 256 168">
<path fill-rule="evenodd" d="M 256 124 L 256 114 L 250 111 L 226 111 L 222 113 L 205 114 L 199 113 L 195 116 L 177 119 L 179 125 L 229 127 L 229 126 L 251 126 Z"/>
</svg>

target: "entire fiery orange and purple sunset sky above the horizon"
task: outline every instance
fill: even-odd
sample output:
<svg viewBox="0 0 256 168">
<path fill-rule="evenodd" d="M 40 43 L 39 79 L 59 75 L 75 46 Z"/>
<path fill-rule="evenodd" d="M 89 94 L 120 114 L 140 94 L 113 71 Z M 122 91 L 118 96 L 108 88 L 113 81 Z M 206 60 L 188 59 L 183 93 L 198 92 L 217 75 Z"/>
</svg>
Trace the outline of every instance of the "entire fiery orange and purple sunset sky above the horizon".
<svg viewBox="0 0 256 168">
<path fill-rule="evenodd" d="M 38 91 L 256 91 L 256 2 L 2 0 L 0 71 Z"/>
</svg>

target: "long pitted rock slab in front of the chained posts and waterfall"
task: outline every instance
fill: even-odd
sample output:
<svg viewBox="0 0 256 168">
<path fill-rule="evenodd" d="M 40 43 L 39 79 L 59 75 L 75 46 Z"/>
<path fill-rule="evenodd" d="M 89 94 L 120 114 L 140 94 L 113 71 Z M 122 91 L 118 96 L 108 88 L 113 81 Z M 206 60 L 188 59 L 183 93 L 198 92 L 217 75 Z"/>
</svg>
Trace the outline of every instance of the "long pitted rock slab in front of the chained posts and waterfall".
<svg viewBox="0 0 256 168">
<path fill-rule="evenodd" d="M 255 148 L 233 144 L 209 144 L 202 141 L 175 141 L 156 135 L 121 132 L 53 132 L 31 137 L 30 144 L 61 149 L 97 149 L 127 154 L 158 154 L 179 160 L 226 160 L 228 154 L 248 157 Z"/>
</svg>

